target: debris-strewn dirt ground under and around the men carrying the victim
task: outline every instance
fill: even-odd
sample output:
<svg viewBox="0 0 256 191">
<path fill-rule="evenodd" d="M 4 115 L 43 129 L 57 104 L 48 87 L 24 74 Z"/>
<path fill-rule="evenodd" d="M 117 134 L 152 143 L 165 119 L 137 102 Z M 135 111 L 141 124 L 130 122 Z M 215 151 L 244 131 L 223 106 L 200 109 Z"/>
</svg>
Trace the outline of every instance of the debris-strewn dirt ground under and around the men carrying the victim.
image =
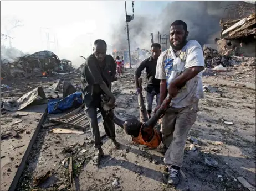
<svg viewBox="0 0 256 191">
<path fill-rule="evenodd" d="M 255 63 L 249 67 L 228 68 L 227 72 L 203 76 L 203 85 L 214 87 L 214 93 L 205 92 L 199 103 L 200 111 L 185 148 L 180 184 L 175 188 L 165 184 L 165 166 L 161 146 L 149 150 L 131 142 L 131 137 L 116 126 L 119 150 L 103 139 L 105 157 L 98 167 L 93 165 L 93 137 L 88 132 L 54 134 L 53 128 L 42 128 L 33 145 L 17 190 L 248 190 L 237 179 L 243 177 L 255 187 Z M 124 76 L 114 82 L 115 115 L 125 119 L 139 118 L 137 95 L 133 80 L 135 69 L 126 69 Z M 238 73 L 240 72 L 240 74 Z M 80 84 L 80 75 L 67 75 L 62 80 Z M 145 82 L 145 80 L 144 80 Z M 249 83 L 247 83 L 249 82 Z M 242 84 L 234 86 L 235 84 Z M 240 87 L 246 85 L 246 87 Z M 249 87 L 249 88 L 247 88 Z M 59 88 L 61 94 L 61 88 Z M 47 115 L 56 118 L 62 114 Z M 225 122 L 233 122 L 233 125 Z M 59 125 L 56 127 L 66 126 Z M 189 146 L 194 139 L 195 151 Z M 219 142 L 215 142 L 219 141 Z M 86 150 L 81 153 L 81 150 Z M 71 187 L 69 169 L 62 161 L 73 158 L 74 185 Z M 216 167 L 206 165 L 206 157 L 218 162 Z M 50 171 L 50 177 L 39 187 L 34 178 Z"/>
</svg>

